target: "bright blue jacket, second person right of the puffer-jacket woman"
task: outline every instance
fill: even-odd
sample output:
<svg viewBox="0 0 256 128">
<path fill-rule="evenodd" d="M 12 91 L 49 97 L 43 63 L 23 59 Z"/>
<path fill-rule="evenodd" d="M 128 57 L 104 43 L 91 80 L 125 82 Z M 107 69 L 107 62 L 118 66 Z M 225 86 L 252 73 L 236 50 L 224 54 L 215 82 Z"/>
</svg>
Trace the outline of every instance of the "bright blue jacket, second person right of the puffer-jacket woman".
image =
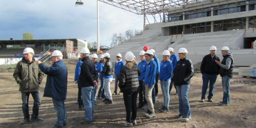
<svg viewBox="0 0 256 128">
<path fill-rule="evenodd" d="M 152 87 L 153 84 L 156 84 L 156 73 L 157 73 L 157 63 L 154 59 L 152 59 L 146 66 L 144 85 L 148 85 L 148 87 Z"/>
</svg>

